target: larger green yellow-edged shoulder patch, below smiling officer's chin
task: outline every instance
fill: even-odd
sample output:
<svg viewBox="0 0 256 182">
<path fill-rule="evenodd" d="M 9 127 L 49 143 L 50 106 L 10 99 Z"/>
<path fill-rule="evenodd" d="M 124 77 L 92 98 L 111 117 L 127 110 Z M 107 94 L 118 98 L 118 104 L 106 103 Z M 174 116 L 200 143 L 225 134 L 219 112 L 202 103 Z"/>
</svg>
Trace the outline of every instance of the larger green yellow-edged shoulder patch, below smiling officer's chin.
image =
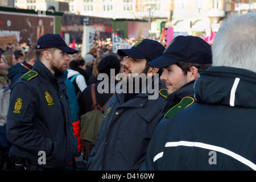
<svg viewBox="0 0 256 182">
<path fill-rule="evenodd" d="M 179 111 L 181 111 L 185 107 L 193 104 L 193 102 L 195 102 L 195 100 L 192 97 L 184 97 L 184 98 L 182 98 L 182 100 L 180 101 L 179 104 L 176 104 L 170 110 L 168 110 L 166 114 L 164 114 L 164 117 L 165 118 L 173 117 L 175 114 L 179 113 Z"/>
</svg>

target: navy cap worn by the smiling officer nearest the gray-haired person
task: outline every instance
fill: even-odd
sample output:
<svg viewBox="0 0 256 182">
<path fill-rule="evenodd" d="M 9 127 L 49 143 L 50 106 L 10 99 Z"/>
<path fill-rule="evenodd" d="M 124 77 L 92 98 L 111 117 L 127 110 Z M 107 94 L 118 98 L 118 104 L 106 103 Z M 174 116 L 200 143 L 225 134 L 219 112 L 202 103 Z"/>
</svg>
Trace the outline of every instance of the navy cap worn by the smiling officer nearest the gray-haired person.
<svg viewBox="0 0 256 182">
<path fill-rule="evenodd" d="M 177 36 L 164 50 L 163 55 L 148 63 L 152 67 L 165 68 L 184 61 L 195 64 L 211 64 L 212 49 L 198 36 Z"/>
</svg>

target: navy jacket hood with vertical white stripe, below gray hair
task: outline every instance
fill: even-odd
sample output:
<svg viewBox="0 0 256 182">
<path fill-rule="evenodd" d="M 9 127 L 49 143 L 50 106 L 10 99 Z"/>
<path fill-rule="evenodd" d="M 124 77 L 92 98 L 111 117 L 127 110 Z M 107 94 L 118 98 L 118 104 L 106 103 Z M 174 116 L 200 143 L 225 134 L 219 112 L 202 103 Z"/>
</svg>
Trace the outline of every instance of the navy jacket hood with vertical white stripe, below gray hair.
<svg viewBox="0 0 256 182">
<path fill-rule="evenodd" d="M 205 104 L 256 108 L 256 73 L 232 67 L 199 71 L 194 98 Z"/>
</svg>

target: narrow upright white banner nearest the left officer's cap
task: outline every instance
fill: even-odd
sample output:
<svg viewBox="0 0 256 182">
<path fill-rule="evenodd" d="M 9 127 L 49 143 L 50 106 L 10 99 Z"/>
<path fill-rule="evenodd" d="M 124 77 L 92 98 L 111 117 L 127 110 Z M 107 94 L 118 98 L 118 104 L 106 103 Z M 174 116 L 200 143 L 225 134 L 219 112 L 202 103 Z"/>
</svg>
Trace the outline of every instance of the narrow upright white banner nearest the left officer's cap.
<svg viewBox="0 0 256 182">
<path fill-rule="evenodd" d="M 86 53 L 88 53 L 90 49 L 93 47 L 93 43 L 95 41 L 95 33 L 96 30 L 94 30 L 93 27 L 84 25 L 84 33 L 82 34 L 82 57 L 84 57 Z"/>
</svg>

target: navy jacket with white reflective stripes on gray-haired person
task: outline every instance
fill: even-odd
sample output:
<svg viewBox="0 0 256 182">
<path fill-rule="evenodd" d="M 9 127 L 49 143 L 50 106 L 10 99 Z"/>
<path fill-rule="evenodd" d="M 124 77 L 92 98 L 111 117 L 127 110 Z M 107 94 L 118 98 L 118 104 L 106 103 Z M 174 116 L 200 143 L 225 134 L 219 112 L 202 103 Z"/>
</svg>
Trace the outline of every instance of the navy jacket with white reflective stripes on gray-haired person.
<svg viewBox="0 0 256 182">
<path fill-rule="evenodd" d="M 200 71 L 195 104 L 160 122 L 142 170 L 256 170 L 256 73 Z"/>
</svg>

